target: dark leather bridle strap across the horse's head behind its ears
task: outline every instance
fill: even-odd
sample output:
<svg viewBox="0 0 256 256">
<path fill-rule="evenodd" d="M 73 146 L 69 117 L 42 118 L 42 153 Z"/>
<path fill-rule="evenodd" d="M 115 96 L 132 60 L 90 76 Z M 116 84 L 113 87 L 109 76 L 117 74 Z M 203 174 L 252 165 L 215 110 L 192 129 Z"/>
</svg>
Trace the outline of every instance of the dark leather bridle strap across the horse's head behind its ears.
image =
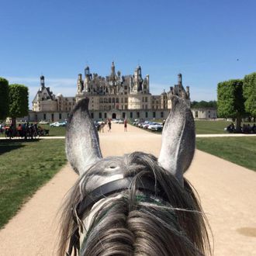
<svg viewBox="0 0 256 256">
<path fill-rule="evenodd" d="M 157 182 L 152 178 L 141 177 L 137 178 L 136 181 L 134 177 L 120 178 L 92 190 L 92 192 L 89 192 L 88 195 L 86 195 L 85 198 L 81 202 L 79 202 L 77 206 L 72 207 L 71 210 L 73 212 L 75 223 L 77 223 L 76 217 L 78 216 L 78 218 L 81 220 L 84 213 L 88 209 L 92 209 L 92 206 L 96 202 L 99 202 L 99 200 L 106 198 L 108 195 L 112 195 L 116 192 L 121 192 L 125 189 L 130 189 L 132 182 L 136 182 L 136 189 L 149 192 L 150 195 L 160 195 L 161 198 L 164 198 L 164 191 L 162 191 L 160 188 L 157 188 Z M 67 255 L 71 255 L 73 248 L 74 254 L 76 255 L 76 253 L 80 249 L 78 227 L 74 231 L 74 234 L 72 234 L 71 236 Z"/>
</svg>

